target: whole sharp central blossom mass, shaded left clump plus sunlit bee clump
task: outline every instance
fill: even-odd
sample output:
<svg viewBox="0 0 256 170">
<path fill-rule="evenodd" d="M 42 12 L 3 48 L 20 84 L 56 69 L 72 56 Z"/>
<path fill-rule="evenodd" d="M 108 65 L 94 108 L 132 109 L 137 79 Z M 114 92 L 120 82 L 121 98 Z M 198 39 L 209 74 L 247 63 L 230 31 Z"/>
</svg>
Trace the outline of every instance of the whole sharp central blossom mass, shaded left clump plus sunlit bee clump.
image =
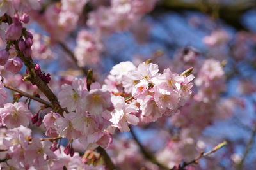
<svg viewBox="0 0 256 170">
<path fill-rule="evenodd" d="M 136 68 L 131 62 L 121 62 L 110 73 L 109 76 L 115 78 L 111 84 L 122 84 L 132 89 L 124 93 L 132 95 L 134 101 L 125 103 L 124 97 L 116 96 L 121 91 L 115 90 L 118 87 L 113 89 L 109 86 L 109 79 L 106 80 L 108 85 L 100 87 L 99 83 L 92 83 L 88 90 L 86 80 L 75 78 L 72 85 L 62 85 L 58 94 L 61 107 L 67 108 L 69 113 L 64 117 L 48 113 L 43 120 L 46 134 L 79 139 L 85 147 L 106 147 L 112 140 L 109 133 L 113 133 L 113 129 L 127 132 L 129 125 L 137 125 L 140 119 L 152 122 L 163 115 L 171 115 L 191 96 L 192 75 L 179 76 L 171 73 L 170 69 L 160 74 L 157 64 L 143 62 Z M 124 79 L 124 75 L 129 78 Z M 136 82 L 136 85 L 124 80 Z"/>
</svg>

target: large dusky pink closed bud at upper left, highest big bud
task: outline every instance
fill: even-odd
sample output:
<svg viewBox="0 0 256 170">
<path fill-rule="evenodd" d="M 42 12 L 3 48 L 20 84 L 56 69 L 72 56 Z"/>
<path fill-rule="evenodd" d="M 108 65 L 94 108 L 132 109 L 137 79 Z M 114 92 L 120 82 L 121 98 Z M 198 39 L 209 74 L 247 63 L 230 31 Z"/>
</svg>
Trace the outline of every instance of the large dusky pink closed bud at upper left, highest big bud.
<svg viewBox="0 0 256 170">
<path fill-rule="evenodd" d="M 5 38 L 7 40 L 17 40 L 20 38 L 22 33 L 22 24 L 18 22 L 17 24 L 11 24 L 5 32 Z"/>
</svg>

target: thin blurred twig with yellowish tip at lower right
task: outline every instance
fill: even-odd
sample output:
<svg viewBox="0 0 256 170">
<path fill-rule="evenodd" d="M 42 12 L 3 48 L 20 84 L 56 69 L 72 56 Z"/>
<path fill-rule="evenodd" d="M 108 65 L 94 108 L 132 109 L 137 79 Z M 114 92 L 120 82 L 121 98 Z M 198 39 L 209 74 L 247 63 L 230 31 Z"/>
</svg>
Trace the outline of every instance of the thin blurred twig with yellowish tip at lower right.
<svg viewBox="0 0 256 170">
<path fill-rule="evenodd" d="M 219 150 L 225 145 L 227 145 L 227 141 L 223 141 L 222 143 L 219 143 L 217 146 L 212 148 L 212 150 L 210 150 L 209 152 L 206 152 L 206 153 L 201 152 L 195 159 L 191 160 L 190 162 L 184 162 L 184 164 L 182 164 L 182 166 L 180 166 L 179 169 L 184 169 L 184 167 L 189 166 L 190 164 L 197 164 L 199 159 L 201 159 L 202 157 L 207 157 L 211 155 L 211 153 L 216 152 L 217 150 Z"/>
</svg>

